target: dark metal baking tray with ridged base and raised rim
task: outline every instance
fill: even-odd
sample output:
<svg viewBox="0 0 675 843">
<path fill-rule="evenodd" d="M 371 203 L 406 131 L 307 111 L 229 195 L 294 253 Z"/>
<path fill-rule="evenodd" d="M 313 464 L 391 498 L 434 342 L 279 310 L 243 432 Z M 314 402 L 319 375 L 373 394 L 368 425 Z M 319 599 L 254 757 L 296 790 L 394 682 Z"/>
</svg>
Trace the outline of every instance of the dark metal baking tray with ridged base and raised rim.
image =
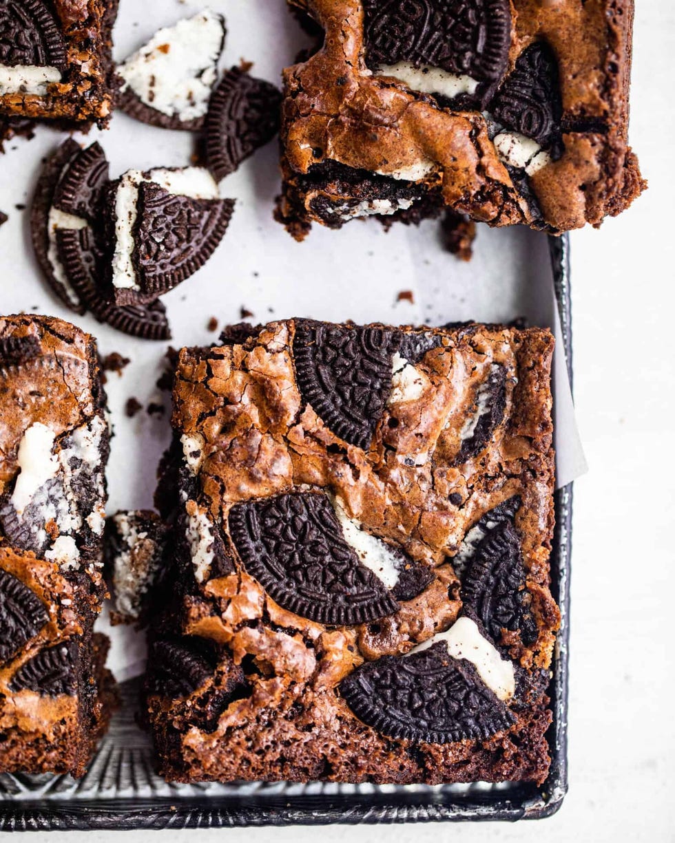
<svg viewBox="0 0 675 843">
<path fill-rule="evenodd" d="M 554 286 L 572 378 L 570 243 L 549 238 Z M 533 784 L 341 785 L 244 782 L 175 785 L 154 774 L 148 735 L 135 722 L 139 679 L 121 685 L 123 705 L 84 778 L 0 776 L 0 830 L 217 828 L 246 825 L 542 819 L 567 792 L 567 701 L 572 484 L 555 493 L 551 591 L 561 624 L 554 651 L 548 779 Z"/>
</svg>

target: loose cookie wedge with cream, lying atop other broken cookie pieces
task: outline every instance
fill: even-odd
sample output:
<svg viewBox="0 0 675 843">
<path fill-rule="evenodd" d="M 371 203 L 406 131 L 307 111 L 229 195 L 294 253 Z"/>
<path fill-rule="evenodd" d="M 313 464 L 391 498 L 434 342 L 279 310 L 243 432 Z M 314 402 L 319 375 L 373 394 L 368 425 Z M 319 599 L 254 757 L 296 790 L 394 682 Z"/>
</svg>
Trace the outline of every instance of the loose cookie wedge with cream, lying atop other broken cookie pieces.
<svg viewBox="0 0 675 843">
<path fill-rule="evenodd" d="M 108 197 L 117 304 L 143 304 L 186 280 L 213 255 L 235 207 L 199 167 L 128 170 Z"/>
</svg>

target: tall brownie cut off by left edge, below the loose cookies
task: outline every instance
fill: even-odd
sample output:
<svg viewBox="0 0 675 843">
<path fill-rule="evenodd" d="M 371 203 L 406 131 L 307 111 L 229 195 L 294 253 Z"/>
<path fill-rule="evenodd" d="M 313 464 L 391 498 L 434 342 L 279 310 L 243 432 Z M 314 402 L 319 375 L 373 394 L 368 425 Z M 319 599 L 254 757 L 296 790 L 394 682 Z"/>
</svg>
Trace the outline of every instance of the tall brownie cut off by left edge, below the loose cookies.
<svg viewBox="0 0 675 843">
<path fill-rule="evenodd" d="M 0 772 L 82 776 L 115 701 L 94 634 L 108 426 L 94 340 L 0 318 Z"/>
</svg>

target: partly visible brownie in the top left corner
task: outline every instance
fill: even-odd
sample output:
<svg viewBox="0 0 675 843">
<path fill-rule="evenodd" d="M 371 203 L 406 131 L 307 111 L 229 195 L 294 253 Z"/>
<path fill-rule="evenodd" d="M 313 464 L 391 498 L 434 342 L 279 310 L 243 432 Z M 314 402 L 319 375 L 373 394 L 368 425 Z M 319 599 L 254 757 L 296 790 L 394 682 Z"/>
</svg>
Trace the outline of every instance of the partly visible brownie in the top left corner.
<svg viewBox="0 0 675 843">
<path fill-rule="evenodd" d="M 0 115 L 103 126 L 112 110 L 118 0 L 4 0 Z"/>
</svg>

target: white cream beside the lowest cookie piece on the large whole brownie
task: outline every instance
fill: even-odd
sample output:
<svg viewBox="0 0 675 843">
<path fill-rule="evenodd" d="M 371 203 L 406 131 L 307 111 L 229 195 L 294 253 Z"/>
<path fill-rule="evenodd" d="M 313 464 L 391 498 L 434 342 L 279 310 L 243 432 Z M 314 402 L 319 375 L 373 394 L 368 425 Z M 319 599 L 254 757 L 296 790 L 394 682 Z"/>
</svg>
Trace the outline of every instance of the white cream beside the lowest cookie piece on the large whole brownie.
<svg viewBox="0 0 675 843">
<path fill-rule="evenodd" d="M 485 685 L 500 700 L 510 699 L 516 692 L 516 677 L 513 663 L 501 658 L 500 653 L 484 638 L 478 626 L 470 618 L 459 618 L 446 632 L 439 632 L 429 641 L 419 644 L 408 652 L 421 652 L 437 642 L 446 642 L 452 658 L 465 658 L 478 670 L 478 675 Z"/>
</svg>

